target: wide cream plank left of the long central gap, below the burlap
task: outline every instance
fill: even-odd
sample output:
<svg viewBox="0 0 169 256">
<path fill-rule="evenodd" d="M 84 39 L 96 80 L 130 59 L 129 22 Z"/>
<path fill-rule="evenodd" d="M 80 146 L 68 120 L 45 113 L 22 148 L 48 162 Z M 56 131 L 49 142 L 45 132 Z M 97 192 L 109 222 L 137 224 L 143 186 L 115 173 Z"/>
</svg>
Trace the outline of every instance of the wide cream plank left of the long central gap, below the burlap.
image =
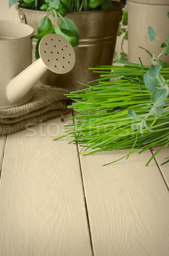
<svg viewBox="0 0 169 256">
<path fill-rule="evenodd" d="M 0 186 L 2 256 L 92 255 L 76 145 L 49 136 L 56 137 L 62 125 L 59 117 L 34 126 L 34 137 L 23 130 L 7 138 Z"/>
</svg>

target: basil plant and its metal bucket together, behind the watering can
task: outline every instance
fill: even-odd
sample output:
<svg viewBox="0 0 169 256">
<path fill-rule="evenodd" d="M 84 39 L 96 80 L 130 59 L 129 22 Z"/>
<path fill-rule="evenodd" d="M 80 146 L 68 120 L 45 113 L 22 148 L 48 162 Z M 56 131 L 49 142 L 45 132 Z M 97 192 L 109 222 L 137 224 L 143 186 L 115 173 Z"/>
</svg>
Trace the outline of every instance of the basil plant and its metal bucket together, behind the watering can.
<svg viewBox="0 0 169 256">
<path fill-rule="evenodd" d="M 85 83 L 97 78 L 88 67 L 112 64 L 123 3 L 110 0 L 9 0 L 10 6 L 17 2 L 21 21 L 33 26 L 35 34 L 39 32 L 34 36 L 37 38 L 34 48 L 43 33 L 48 32 L 64 34 L 76 48 L 74 68 L 64 76 L 47 71 L 42 77 L 43 83 L 69 90 L 80 89 L 83 85 L 77 81 Z M 38 58 L 37 50 L 36 56 Z"/>
</svg>

